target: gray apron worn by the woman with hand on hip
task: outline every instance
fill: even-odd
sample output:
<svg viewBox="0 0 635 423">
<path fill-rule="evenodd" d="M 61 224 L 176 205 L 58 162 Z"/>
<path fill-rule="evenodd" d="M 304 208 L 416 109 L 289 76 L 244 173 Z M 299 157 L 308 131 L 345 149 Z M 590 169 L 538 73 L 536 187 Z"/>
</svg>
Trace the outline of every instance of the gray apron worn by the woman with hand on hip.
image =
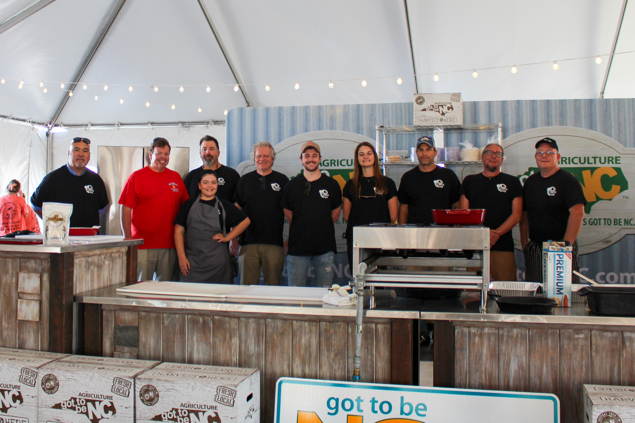
<svg viewBox="0 0 635 423">
<path fill-rule="evenodd" d="M 182 282 L 232 283 L 230 281 L 229 246 L 227 242 L 212 239 L 217 233 L 226 236 L 225 228 L 220 227 L 218 209 L 223 214 L 225 209 L 216 198 L 214 207 L 199 202 L 196 197 L 187 216 L 187 232 L 185 235 L 185 257 L 190 262 L 187 276 L 181 273 Z"/>
</svg>

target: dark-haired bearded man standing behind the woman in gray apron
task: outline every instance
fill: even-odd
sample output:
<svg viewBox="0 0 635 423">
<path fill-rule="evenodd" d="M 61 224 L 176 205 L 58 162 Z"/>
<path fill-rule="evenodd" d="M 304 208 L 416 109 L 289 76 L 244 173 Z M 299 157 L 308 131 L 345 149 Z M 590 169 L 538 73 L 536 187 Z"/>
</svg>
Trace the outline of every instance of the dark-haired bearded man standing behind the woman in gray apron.
<svg viewBox="0 0 635 423">
<path fill-rule="evenodd" d="M 218 140 L 216 138 L 206 135 L 199 141 L 199 146 L 203 166 L 197 167 L 185 176 L 183 182 L 187 187 L 187 193 L 189 193 L 190 198 L 198 197 L 201 193 L 198 187 L 201 172 L 203 172 L 204 169 L 211 169 L 218 176 L 218 191 L 216 196 L 233 203 L 234 193 L 236 192 L 236 185 L 238 184 L 240 175 L 231 167 L 224 166 L 218 162 L 220 148 L 218 147 Z"/>
</svg>

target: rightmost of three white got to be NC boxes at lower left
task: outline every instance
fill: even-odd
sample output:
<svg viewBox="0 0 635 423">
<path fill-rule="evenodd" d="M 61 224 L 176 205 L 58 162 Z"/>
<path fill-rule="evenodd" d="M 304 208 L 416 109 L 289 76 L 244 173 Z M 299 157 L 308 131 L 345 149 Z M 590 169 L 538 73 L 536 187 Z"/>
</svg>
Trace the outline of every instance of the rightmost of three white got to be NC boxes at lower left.
<svg viewBox="0 0 635 423">
<path fill-rule="evenodd" d="M 136 378 L 137 423 L 260 422 L 260 370 L 161 363 Z"/>
</svg>

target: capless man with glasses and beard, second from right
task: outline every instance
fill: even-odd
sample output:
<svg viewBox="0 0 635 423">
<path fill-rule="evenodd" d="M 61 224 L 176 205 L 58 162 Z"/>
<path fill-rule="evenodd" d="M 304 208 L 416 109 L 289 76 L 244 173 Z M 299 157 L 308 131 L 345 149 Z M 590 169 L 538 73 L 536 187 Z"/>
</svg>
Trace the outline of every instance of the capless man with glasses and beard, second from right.
<svg viewBox="0 0 635 423">
<path fill-rule="evenodd" d="M 465 176 L 461 209 L 485 209 L 483 225 L 490 228 L 492 280 L 516 280 L 512 228 L 523 214 L 523 186 L 515 176 L 500 171 L 503 148 L 488 144 L 481 153 L 483 172 Z"/>
</svg>

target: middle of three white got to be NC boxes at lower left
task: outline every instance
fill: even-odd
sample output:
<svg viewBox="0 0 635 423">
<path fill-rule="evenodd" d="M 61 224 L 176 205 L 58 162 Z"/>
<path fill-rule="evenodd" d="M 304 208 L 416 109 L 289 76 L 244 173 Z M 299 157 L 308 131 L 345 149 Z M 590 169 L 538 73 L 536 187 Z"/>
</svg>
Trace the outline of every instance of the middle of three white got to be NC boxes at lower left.
<svg viewBox="0 0 635 423">
<path fill-rule="evenodd" d="M 135 418 L 135 375 L 159 361 L 69 356 L 41 368 L 40 423 L 117 423 Z"/>
</svg>

